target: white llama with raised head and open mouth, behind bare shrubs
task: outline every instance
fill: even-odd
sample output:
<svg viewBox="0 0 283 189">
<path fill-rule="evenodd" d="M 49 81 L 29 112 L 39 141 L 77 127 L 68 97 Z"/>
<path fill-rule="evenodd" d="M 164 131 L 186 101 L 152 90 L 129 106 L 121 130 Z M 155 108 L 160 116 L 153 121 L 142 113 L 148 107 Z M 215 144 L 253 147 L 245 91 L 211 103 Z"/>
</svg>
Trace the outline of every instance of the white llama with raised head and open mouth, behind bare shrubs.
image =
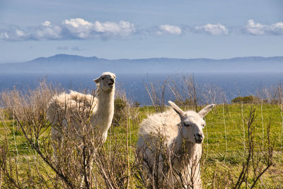
<svg viewBox="0 0 283 189">
<path fill-rule="evenodd" d="M 56 162 L 61 162 L 62 158 L 69 159 L 74 151 L 66 151 L 66 147 L 70 148 L 69 144 L 79 147 L 79 154 L 75 154 L 84 161 L 74 159 L 80 162 L 76 164 L 79 168 L 79 180 L 76 181 L 81 187 L 83 182 L 89 184 L 93 181 L 91 171 L 96 149 L 105 142 L 112 122 L 115 78 L 115 74 L 104 72 L 93 80 L 97 84 L 95 96 L 75 91 L 61 93 L 52 98 L 47 108 L 47 119 L 52 123 L 51 137 Z"/>
</svg>

